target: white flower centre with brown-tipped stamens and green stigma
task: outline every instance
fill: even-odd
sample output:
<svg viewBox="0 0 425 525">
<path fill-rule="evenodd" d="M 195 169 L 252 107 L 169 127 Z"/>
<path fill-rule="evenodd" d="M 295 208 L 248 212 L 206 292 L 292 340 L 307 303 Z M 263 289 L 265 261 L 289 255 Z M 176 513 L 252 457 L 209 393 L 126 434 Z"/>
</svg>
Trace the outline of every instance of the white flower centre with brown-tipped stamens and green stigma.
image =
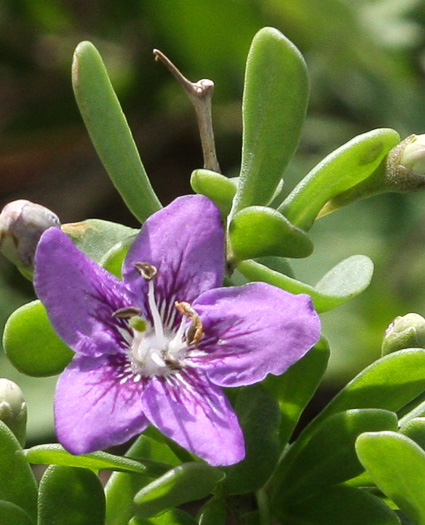
<svg viewBox="0 0 425 525">
<path fill-rule="evenodd" d="M 155 299 L 154 279 L 157 269 L 148 263 L 134 263 L 140 275 L 148 282 L 148 307 L 151 320 L 141 317 L 136 307 L 120 308 L 113 316 L 128 320 L 131 337 L 128 359 L 131 371 L 138 376 L 167 376 L 185 367 L 189 347 L 196 346 L 203 336 L 202 322 L 189 303 L 175 302 L 175 308 L 183 314 L 177 331 L 164 325 Z M 187 319 L 191 321 L 185 329 Z"/>
</svg>

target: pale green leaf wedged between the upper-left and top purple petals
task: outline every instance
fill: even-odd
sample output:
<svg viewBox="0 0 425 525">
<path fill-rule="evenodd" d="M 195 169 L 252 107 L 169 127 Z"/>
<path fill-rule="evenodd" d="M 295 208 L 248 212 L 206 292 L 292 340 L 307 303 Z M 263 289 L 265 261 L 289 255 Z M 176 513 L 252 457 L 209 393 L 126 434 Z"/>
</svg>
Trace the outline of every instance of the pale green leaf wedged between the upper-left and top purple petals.
<svg viewBox="0 0 425 525">
<path fill-rule="evenodd" d="M 64 224 L 62 230 L 73 243 L 98 264 L 105 253 L 125 239 L 133 239 L 138 230 L 115 222 L 87 219 L 83 222 Z"/>
</svg>

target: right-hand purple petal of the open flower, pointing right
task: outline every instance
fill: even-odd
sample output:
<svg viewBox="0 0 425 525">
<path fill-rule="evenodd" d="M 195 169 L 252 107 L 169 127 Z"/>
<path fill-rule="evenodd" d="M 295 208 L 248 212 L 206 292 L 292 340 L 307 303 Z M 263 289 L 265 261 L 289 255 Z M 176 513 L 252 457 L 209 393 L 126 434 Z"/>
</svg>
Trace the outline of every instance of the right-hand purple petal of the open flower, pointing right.
<svg viewBox="0 0 425 525">
<path fill-rule="evenodd" d="M 204 337 L 191 358 L 220 386 L 250 385 L 283 374 L 319 340 L 320 320 L 308 295 L 266 283 L 218 288 L 193 308 Z"/>
</svg>

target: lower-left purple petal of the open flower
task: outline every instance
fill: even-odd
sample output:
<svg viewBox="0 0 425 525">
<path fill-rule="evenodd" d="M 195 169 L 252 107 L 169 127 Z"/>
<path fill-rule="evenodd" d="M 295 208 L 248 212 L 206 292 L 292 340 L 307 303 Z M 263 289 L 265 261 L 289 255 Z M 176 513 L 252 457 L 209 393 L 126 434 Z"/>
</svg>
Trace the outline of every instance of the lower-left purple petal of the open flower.
<svg viewBox="0 0 425 525">
<path fill-rule="evenodd" d="M 123 372 L 122 356 L 77 356 L 58 380 L 56 434 L 73 454 L 119 445 L 148 425 L 140 396 L 143 382 Z"/>
</svg>

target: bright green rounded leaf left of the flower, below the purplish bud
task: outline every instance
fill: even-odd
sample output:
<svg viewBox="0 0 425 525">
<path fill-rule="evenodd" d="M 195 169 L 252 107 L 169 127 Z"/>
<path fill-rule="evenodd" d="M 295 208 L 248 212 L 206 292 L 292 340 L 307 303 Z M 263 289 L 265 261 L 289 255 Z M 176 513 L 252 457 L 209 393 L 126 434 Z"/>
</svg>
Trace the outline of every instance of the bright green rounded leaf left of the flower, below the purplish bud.
<svg viewBox="0 0 425 525">
<path fill-rule="evenodd" d="M 15 368 L 35 377 L 59 374 L 74 356 L 54 331 L 40 301 L 21 306 L 9 317 L 3 348 Z"/>
</svg>

